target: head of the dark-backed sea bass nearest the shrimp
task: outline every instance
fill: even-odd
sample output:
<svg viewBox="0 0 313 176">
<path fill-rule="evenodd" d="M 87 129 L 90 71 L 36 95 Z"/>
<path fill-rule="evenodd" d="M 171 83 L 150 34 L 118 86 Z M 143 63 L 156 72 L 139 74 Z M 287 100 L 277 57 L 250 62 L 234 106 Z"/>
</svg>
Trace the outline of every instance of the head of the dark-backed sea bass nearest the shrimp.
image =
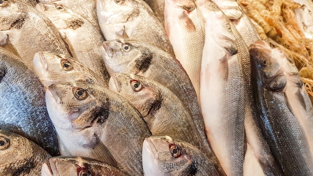
<svg viewBox="0 0 313 176">
<path fill-rule="evenodd" d="M 265 87 L 272 91 L 285 91 L 286 78 L 277 54 L 262 40 L 249 46 L 251 77 L 258 78 Z M 281 55 L 280 55 L 281 56 Z M 280 58 L 281 59 L 281 58 Z"/>
</svg>

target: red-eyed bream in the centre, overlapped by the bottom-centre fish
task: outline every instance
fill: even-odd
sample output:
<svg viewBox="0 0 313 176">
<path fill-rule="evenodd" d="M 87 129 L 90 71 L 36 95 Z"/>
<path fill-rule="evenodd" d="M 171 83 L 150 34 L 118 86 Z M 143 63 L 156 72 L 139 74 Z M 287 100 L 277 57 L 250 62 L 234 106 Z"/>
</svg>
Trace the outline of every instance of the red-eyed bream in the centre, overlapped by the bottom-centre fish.
<svg viewBox="0 0 313 176">
<path fill-rule="evenodd" d="M 109 89 L 139 110 L 152 135 L 169 135 L 200 148 L 201 136 L 193 118 L 181 100 L 165 86 L 131 73 L 114 73 Z"/>
</svg>

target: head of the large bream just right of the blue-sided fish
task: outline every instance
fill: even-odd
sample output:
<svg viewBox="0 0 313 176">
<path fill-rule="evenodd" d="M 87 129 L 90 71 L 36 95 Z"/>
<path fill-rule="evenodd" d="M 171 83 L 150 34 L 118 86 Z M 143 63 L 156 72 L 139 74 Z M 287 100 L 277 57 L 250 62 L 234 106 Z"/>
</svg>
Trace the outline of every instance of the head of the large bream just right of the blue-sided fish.
<svg viewBox="0 0 313 176">
<path fill-rule="evenodd" d="M 105 113 L 106 99 L 101 98 L 99 86 L 85 82 L 63 82 L 48 86 L 46 106 L 54 126 L 67 130 L 91 127 L 94 120 Z"/>
</svg>

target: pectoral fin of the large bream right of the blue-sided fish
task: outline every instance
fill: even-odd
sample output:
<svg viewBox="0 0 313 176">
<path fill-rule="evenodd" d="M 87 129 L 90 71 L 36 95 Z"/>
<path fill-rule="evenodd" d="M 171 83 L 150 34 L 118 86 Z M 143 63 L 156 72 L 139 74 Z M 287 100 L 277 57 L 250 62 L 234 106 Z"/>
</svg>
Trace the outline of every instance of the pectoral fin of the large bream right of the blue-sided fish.
<svg viewBox="0 0 313 176">
<path fill-rule="evenodd" d="M 95 145 L 92 147 L 91 150 L 91 154 L 93 156 L 98 156 L 98 158 L 101 158 L 101 160 L 104 163 L 110 164 L 116 168 L 118 168 L 117 166 L 117 162 L 115 160 L 115 158 L 112 156 L 111 152 L 108 150 L 108 148 L 102 143 L 102 141 L 95 136 Z"/>
</svg>

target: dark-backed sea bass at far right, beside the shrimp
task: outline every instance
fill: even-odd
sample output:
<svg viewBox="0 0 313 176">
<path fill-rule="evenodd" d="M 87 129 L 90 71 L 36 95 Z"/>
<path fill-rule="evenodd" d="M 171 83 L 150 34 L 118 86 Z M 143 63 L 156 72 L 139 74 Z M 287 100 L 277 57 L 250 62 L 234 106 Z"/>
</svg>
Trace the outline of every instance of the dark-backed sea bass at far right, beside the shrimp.
<svg viewBox="0 0 313 176">
<path fill-rule="evenodd" d="M 249 46 L 251 83 L 261 129 L 284 175 L 311 175 L 312 154 L 286 99 L 283 67 L 264 41 Z"/>
</svg>

